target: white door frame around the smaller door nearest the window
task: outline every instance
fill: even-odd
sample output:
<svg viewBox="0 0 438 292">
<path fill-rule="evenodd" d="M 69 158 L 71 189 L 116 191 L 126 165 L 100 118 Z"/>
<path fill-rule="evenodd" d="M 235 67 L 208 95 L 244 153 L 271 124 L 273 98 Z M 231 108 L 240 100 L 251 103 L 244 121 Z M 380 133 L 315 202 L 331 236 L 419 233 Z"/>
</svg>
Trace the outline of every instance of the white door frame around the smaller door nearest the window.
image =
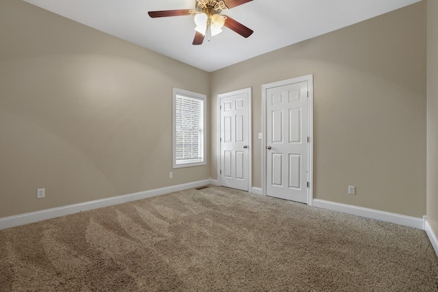
<svg viewBox="0 0 438 292">
<path fill-rule="evenodd" d="M 253 99 L 253 94 L 252 94 L 252 89 L 251 88 L 243 88 L 241 90 L 234 90 L 231 92 L 225 92 L 225 93 L 221 93 L 218 94 L 216 96 L 216 112 L 217 112 L 217 118 L 216 118 L 216 143 L 217 143 L 217 149 L 218 149 L 218 155 L 217 155 L 217 176 L 218 176 L 218 185 L 221 185 L 221 174 L 220 174 L 220 159 L 221 159 L 221 151 L 220 151 L 220 133 L 221 133 L 221 129 L 220 129 L 220 98 L 224 98 L 224 97 L 228 97 L 228 96 L 232 96 L 232 95 L 236 95 L 236 94 L 242 94 L 242 93 L 246 93 L 248 94 L 248 120 L 249 120 L 249 124 L 248 124 L 248 133 L 249 133 L 249 141 L 248 141 L 248 192 L 251 192 L 251 189 L 253 187 L 253 107 L 252 107 L 252 99 Z"/>
</svg>

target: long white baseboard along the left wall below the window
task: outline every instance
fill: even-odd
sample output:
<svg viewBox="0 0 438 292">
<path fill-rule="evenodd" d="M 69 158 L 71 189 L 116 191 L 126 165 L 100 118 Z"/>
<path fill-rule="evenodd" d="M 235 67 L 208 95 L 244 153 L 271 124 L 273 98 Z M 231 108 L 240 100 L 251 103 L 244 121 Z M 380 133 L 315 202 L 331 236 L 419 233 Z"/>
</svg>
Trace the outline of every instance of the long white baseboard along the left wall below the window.
<svg viewBox="0 0 438 292">
<path fill-rule="evenodd" d="M 144 198 L 151 198 L 154 196 L 164 195 L 172 193 L 173 191 L 182 191 L 184 189 L 191 189 L 193 187 L 201 187 L 203 185 L 209 185 L 211 180 L 206 179 L 204 181 L 196 181 L 193 183 L 184 183 L 182 185 L 173 185 L 171 187 L 162 187 L 160 189 L 151 189 L 149 191 L 140 191 L 134 194 L 127 194 L 123 196 L 116 196 L 112 198 L 105 198 L 101 200 L 94 200 L 90 202 L 83 202 L 79 204 L 71 204 L 68 206 L 57 207 L 53 209 L 46 209 L 42 211 L 36 211 L 31 213 L 25 213 L 20 215 L 14 215 L 10 217 L 0 218 L 0 230 L 19 226 L 23 224 L 29 224 L 42 220 L 47 220 L 64 215 L 70 215 L 81 211 L 88 211 L 92 209 L 98 209 L 102 207 L 108 207 L 115 204 L 122 204 L 125 202 L 131 202 L 135 200 L 141 200 Z"/>
</svg>

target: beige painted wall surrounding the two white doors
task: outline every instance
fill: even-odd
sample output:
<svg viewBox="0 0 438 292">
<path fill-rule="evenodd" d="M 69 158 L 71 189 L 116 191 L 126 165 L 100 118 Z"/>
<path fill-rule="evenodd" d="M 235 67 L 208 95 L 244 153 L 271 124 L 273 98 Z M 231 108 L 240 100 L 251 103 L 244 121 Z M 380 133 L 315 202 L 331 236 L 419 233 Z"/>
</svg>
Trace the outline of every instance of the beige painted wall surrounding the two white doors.
<svg viewBox="0 0 438 292">
<path fill-rule="evenodd" d="M 261 85 L 313 74 L 313 197 L 426 213 L 426 3 L 372 18 L 211 74 L 217 94 L 253 88 L 253 186 L 261 187 Z M 216 137 L 216 125 L 211 128 Z M 216 139 L 211 177 L 217 177 Z M 348 185 L 356 195 L 347 194 Z"/>
</svg>

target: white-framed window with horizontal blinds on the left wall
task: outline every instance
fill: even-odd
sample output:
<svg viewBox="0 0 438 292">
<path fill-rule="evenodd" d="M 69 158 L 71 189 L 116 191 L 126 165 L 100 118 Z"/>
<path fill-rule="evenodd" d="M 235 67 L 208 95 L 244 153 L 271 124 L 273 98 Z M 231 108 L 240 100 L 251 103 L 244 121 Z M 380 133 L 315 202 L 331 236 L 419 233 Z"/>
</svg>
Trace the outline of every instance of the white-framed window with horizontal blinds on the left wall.
<svg viewBox="0 0 438 292">
<path fill-rule="evenodd" d="M 206 96 L 173 89 L 173 168 L 205 165 Z"/>
</svg>

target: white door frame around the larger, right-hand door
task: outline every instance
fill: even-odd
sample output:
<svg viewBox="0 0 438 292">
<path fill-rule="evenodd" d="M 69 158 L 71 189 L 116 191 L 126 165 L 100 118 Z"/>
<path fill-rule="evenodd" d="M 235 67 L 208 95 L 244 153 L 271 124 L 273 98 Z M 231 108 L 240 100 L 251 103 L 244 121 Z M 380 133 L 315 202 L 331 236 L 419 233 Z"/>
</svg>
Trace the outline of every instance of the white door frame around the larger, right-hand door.
<svg viewBox="0 0 438 292">
<path fill-rule="evenodd" d="M 309 182 L 309 187 L 307 188 L 307 204 L 311 206 L 313 203 L 313 74 L 261 85 L 261 129 L 263 133 L 261 151 L 261 194 L 266 196 L 266 91 L 269 88 L 276 88 L 303 81 L 307 81 L 309 87 L 309 98 L 307 98 L 307 110 L 309 111 L 307 116 L 309 123 L 309 143 L 307 143 L 307 151 L 309 154 L 307 159 L 307 169 L 309 170 L 307 173 L 307 181 Z"/>
</svg>

